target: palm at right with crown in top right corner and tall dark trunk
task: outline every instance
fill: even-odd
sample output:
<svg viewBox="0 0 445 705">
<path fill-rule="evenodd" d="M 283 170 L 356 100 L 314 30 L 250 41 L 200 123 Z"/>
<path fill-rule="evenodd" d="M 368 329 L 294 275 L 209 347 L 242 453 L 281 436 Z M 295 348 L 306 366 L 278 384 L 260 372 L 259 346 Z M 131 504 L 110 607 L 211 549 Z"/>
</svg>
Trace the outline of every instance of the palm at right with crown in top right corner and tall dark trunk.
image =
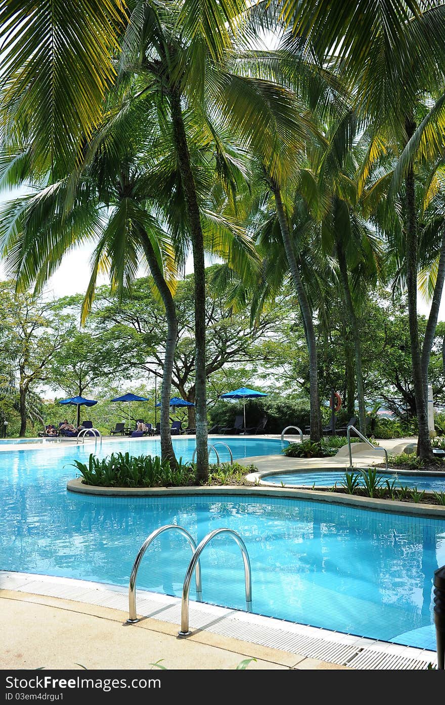
<svg viewBox="0 0 445 705">
<path fill-rule="evenodd" d="M 282 15 L 295 36 L 329 50 L 351 83 L 356 108 L 374 134 L 390 134 L 403 147 L 415 135 L 415 106 L 421 94 L 434 94 L 443 83 L 445 6 L 438 0 L 391 0 L 377 11 L 366 0 L 347 1 L 341 8 L 327 0 L 284 0 Z M 398 184 L 398 187 L 400 184 Z M 406 285 L 413 384 L 418 409 L 418 453 L 432 458 L 418 338 L 418 222 L 415 171 L 409 154 L 403 171 L 406 209 Z"/>
</svg>

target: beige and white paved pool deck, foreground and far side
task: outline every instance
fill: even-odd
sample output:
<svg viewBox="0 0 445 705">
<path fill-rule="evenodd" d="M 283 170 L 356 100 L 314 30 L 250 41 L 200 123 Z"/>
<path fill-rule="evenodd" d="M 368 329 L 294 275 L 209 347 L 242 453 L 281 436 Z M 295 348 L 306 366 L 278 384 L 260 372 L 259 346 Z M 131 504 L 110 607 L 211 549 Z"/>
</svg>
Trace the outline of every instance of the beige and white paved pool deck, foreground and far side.
<svg viewBox="0 0 445 705">
<path fill-rule="evenodd" d="M 262 437 L 280 438 L 272 434 Z M 286 436 L 288 441 L 298 439 Z M 379 441 L 387 450 L 410 442 L 415 439 Z M 42 443 L 27 443 L 25 448 L 42 448 Z M 18 446 L 1 449 L 18 450 Z M 378 453 L 355 452 L 354 456 L 360 466 L 382 462 Z M 302 465 L 345 467 L 349 458 L 270 455 L 239 462 L 253 463 L 264 472 L 295 470 Z M 119 587 L 0 571 L 4 635 L 0 668 L 156 670 L 152 664 L 161 661 L 169 670 L 230 670 L 246 658 L 256 659 L 249 669 L 272 670 L 424 670 L 429 663 L 437 663 L 431 646 L 414 649 L 196 602 L 190 603 L 193 633 L 180 639 L 179 599 L 138 591 L 137 613 L 144 617 L 134 625 L 126 622 L 127 604 L 127 590 Z"/>
</svg>

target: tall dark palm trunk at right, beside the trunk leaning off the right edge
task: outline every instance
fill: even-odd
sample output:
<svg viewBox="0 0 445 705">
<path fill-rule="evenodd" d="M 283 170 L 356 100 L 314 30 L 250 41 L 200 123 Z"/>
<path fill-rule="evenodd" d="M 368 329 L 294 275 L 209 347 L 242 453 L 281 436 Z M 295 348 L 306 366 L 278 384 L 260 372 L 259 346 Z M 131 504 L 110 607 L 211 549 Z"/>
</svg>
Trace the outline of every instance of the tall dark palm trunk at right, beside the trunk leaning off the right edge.
<svg viewBox="0 0 445 705">
<path fill-rule="evenodd" d="M 406 118 L 406 135 L 408 140 L 414 134 L 415 123 Z M 428 429 L 427 405 L 425 403 L 422 362 L 420 358 L 417 278 L 418 278 L 418 230 L 415 209 L 414 170 L 411 163 L 405 177 L 406 201 L 406 288 L 408 291 L 408 321 L 410 327 L 411 365 L 413 370 L 413 388 L 418 417 L 418 455 L 420 458 L 434 458 Z"/>
</svg>

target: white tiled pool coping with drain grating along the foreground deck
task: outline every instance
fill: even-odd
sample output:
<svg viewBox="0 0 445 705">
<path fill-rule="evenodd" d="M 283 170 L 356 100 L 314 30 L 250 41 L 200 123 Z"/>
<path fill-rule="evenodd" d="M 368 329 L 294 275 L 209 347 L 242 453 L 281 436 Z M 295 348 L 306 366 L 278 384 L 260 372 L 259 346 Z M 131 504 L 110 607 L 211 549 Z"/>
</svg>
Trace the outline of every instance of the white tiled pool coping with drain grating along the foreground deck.
<svg viewBox="0 0 445 705">
<path fill-rule="evenodd" d="M 128 589 L 120 585 L 0 570 L 1 589 L 128 613 Z M 181 599 L 138 589 L 137 615 L 143 615 L 142 620 L 150 618 L 161 623 L 173 623 L 179 630 Z M 433 666 L 437 664 L 437 653 L 432 649 L 336 632 L 207 602 L 190 600 L 189 618 L 192 635 L 201 631 L 211 632 L 223 638 L 242 639 L 251 644 L 269 646 L 354 670 L 427 670 L 430 663 Z"/>
</svg>

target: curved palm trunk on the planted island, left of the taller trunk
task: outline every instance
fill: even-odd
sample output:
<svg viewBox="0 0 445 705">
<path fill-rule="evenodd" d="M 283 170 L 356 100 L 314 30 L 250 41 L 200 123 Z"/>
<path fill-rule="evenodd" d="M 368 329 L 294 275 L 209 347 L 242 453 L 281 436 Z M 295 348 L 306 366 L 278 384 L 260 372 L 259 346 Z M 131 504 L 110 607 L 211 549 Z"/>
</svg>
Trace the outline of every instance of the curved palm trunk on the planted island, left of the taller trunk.
<svg viewBox="0 0 445 705">
<path fill-rule="evenodd" d="M 168 460 L 170 467 L 175 470 L 177 460 L 173 450 L 172 436 L 170 433 L 170 391 L 172 386 L 173 363 L 175 362 L 175 349 L 177 341 L 177 316 L 175 302 L 167 282 L 156 259 L 156 253 L 146 233 L 141 233 L 142 245 L 149 263 L 151 276 L 163 300 L 165 316 L 167 318 L 167 340 L 165 341 L 165 358 L 161 387 L 161 458 Z"/>
</svg>

